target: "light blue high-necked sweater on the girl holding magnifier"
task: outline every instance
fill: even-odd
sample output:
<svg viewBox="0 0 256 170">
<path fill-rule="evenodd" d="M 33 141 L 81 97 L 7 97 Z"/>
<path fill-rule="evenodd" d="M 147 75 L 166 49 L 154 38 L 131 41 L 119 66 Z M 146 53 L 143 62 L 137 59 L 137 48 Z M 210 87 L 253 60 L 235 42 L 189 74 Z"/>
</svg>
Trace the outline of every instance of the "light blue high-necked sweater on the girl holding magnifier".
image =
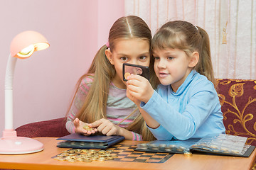
<svg viewBox="0 0 256 170">
<path fill-rule="evenodd" d="M 194 70 L 176 93 L 170 85 L 159 85 L 141 107 L 160 124 L 159 128 L 149 128 L 157 140 L 187 140 L 225 133 L 218 94 L 212 82 Z"/>
</svg>

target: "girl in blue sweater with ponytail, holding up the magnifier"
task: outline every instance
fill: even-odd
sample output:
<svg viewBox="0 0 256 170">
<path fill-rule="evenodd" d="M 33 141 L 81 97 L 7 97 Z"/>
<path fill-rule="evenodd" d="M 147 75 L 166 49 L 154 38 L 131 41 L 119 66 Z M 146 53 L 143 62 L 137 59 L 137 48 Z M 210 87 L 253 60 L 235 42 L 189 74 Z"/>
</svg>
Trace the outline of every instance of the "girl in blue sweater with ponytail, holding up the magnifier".
<svg viewBox="0 0 256 170">
<path fill-rule="evenodd" d="M 187 140 L 225 133 L 215 90 L 206 30 L 171 21 L 151 41 L 156 90 L 143 77 L 127 79 L 127 96 L 139 107 L 158 140 Z"/>
</svg>

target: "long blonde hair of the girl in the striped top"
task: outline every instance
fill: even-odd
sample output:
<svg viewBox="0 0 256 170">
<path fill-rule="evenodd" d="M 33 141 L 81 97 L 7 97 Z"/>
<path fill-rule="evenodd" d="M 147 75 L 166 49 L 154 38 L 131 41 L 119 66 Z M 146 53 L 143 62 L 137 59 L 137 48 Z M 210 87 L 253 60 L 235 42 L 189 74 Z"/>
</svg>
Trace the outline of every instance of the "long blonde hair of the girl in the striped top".
<svg viewBox="0 0 256 170">
<path fill-rule="evenodd" d="M 141 38 L 143 40 L 148 40 L 149 44 L 151 42 L 151 30 L 146 25 L 146 23 L 138 16 L 127 16 L 119 18 L 114 22 L 112 28 L 110 28 L 110 34 L 108 42 L 110 45 L 110 50 L 114 50 L 115 44 L 118 43 L 120 38 Z M 78 80 L 77 88 L 75 94 L 78 92 L 79 85 L 82 79 L 85 79 L 88 75 L 93 75 L 94 81 L 90 86 L 85 102 L 79 113 L 76 115 L 80 120 L 86 123 L 92 123 L 95 120 L 101 118 L 107 118 L 106 108 L 107 108 L 107 97 L 110 89 L 111 80 L 114 78 L 116 71 L 114 66 L 110 63 L 105 55 L 105 50 L 107 46 L 103 45 L 100 50 L 97 51 L 95 58 L 88 69 L 88 72 Z M 154 74 L 153 60 L 150 61 L 150 75 L 151 84 L 156 87 L 156 76 Z M 75 96 L 73 97 L 74 101 Z M 73 103 L 72 101 L 72 103 Z M 72 106 L 72 103 L 70 107 Z M 69 108 L 70 110 L 70 108 Z M 130 123 L 127 130 L 138 132 L 142 134 L 143 140 L 154 140 L 154 136 L 151 134 L 142 115 L 139 114 L 137 118 Z"/>
</svg>

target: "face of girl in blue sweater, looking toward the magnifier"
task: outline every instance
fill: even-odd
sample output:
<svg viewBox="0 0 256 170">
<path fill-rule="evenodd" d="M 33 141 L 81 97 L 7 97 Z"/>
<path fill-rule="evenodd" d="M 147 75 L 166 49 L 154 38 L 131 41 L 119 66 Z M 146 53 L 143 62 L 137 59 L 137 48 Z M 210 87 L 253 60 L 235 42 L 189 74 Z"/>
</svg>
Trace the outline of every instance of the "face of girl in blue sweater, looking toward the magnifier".
<svg viewBox="0 0 256 170">
<path fill-rule="evenodd" d="M 171 84 L 174 92 L 183 84 L 191 72 L 191 59 L 185 52 L 178 49 L 166 48 L 153 51 L 154 70 L 163 85 Z"/>
</svg>

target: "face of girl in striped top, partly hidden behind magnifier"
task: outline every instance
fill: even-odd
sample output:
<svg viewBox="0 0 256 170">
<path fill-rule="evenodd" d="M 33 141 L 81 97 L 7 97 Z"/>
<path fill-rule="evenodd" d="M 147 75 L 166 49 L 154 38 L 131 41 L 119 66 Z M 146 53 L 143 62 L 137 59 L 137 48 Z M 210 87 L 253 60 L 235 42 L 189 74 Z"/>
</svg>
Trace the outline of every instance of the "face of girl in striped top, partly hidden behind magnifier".
<svg viewBox="0 0 256 170">
<path fill-rule="evenodd" d="M 126 89 L 126 82 L 123 81 L 122 67 L 124 63 L 139 64 L 149 67 L 150 53 L 149 41 L 140 38 L 118 39 L 112 52 L 106 50 L 105 54 L 114 65 L 117 72 L 112 82 L 120 89 Z"/>
</svg>

